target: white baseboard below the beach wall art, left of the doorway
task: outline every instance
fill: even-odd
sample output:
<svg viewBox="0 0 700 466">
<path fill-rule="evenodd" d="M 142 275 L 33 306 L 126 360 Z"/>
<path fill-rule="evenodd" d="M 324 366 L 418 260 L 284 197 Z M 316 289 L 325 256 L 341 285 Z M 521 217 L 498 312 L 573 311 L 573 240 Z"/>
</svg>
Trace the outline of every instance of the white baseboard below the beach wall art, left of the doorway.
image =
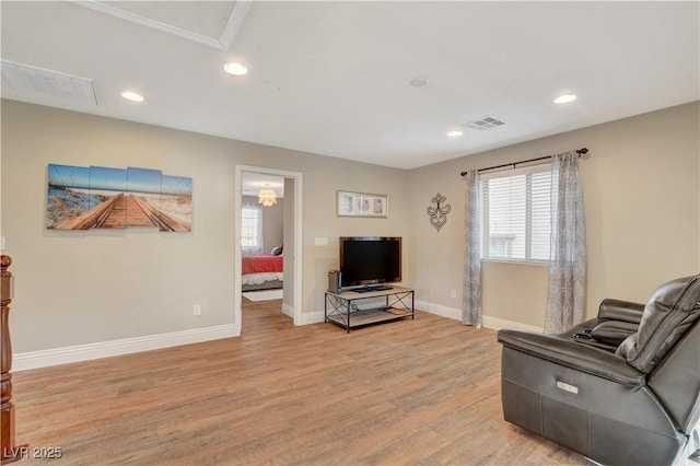
<svg viewBox="0 0 700 466">
<path fill-rule="evenodd" d="M 231 324 L 207 328 L 192 328 L 170 334 L 125 338 L 121 340 L 77 345 L 74 347 L 28 351 L 13 356 L 12 371 L 26 371 L 49 365 L 68 364 L 71 362 L 89 361 L 238 336 L 241 336 L 241 325 Z"/>
</svg>

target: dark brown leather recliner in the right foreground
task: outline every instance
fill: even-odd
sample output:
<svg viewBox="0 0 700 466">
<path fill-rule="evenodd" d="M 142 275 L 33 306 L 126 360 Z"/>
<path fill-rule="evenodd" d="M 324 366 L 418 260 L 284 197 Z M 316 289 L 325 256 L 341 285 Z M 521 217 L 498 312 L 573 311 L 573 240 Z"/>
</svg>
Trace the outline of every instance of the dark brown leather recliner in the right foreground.
<svg viewBox="0 0 700 466">
<path fill-rule="evenodd" d="M 506 421 L 606 465 L 682 464 L 700 447 L 700 275 L 646 305 L 604 300 L 564 334 L 498 340 Z"/>
</svg>

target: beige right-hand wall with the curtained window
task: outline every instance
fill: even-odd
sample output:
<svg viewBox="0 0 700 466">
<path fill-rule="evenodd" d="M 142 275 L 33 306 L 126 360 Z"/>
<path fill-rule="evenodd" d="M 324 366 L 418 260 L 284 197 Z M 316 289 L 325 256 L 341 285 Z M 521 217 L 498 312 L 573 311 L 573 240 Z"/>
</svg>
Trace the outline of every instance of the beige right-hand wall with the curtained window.
<svg viewBox="0 0 700 466">
<path fill-rule="evenodd" d="M 700 271 L 698 102 L 413 170 L 409 282 L 418 299 L 460 308 L 464 186 L 459 173 L 587 147 L 581 160 L 587 248 L 586 312 L 606 296 L 645 301 L 660 283 Z M 452 212 L 440 233 L 425 208 L 441 191 Z M 546 267 L 483 266 L 483 314 L 541 327 Z M 451 291 L 457 298 L 451 298 Z"/>
</svg>

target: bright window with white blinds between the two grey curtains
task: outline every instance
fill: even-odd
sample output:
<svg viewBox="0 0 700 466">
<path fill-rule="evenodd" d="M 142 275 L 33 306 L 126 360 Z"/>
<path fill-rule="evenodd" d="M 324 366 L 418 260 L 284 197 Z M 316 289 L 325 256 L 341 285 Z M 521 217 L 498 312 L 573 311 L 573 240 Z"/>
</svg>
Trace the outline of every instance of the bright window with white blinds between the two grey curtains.
<svg viewBox="0 0 700 466">
<path fill-rule="evenodd" d="M 549 260 L 551 164 L 480 176 L 482 257 Z"/>
</svg>

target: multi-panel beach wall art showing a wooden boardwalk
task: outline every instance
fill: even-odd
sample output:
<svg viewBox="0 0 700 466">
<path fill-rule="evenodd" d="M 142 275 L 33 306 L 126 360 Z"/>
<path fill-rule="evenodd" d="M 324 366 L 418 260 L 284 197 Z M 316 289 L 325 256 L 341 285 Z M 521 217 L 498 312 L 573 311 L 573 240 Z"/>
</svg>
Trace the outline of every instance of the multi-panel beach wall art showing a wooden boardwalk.
<svg viewBox="0 0 700 466">
<path fill-rule="evenodd" d="M 192 178 L 160 170 L 48 165 L 49 230 L 158 226 L 190 232 Z"/>
</svg>

